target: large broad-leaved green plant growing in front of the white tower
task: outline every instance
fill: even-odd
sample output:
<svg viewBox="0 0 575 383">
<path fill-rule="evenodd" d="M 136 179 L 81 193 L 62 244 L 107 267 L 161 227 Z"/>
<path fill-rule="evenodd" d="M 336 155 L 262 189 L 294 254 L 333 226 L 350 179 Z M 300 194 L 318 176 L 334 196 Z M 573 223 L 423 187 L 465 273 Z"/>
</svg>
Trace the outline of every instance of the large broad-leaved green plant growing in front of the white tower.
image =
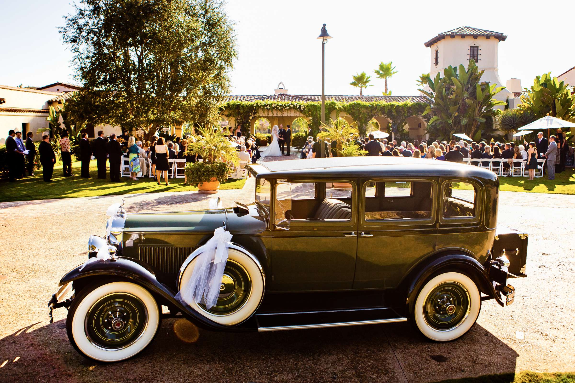
<svg viewBox="0 0 575 383">
<path fill-rule="evenodd" d="M 467 69 L 449 66 L 435 76 L 427 77 L 430 90 L 419 89 L 430 101 L 425 114 L 430 114 L 431 120 L 427 131 L 438 139 L 449 140 L 453 133 L 465 133 L 477 139 L 481 136 L 480 126 L 488 127 L 489 122 L 499 113 L 496 105 L 505 105 L 505 101 L 494 99 L 504 87 L 490 85 L 481 81 L 484 71 L 480 71 L 473 59 L 469 60 Z"/>
</svg>

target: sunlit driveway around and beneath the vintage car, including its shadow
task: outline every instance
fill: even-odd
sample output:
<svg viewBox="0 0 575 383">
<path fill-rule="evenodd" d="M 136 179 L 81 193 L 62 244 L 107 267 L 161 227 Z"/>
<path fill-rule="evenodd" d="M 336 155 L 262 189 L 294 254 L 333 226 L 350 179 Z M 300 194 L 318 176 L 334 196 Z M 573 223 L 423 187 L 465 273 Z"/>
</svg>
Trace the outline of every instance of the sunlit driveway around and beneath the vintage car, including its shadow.
<svg viewBox="0 0 575 383">
<path fill-rule="evenodd" d="M 251 201 L 243 190 L 218 194 L 224 206 Z M 55 382 L 426 382 L 575 366 L 575 196 L 501 192 L 499 223 L 529 233 L 528 278 L 515 302 L 485 301 L 463 338 L 431 343 L 408 323 L 224 334 L 183 319 L 131 360 L 101 364 L 79 356 L 66 335 L 66 310 L 48 323 L 57 282 L 85 261 L 90 234 L 121 196 L 0 204 L 0 381 Z M 201 209 L 196 192 L 130 194 L 128 212 Z M 194 342 L 189 342 L 193 340 Z"/>
</svg>

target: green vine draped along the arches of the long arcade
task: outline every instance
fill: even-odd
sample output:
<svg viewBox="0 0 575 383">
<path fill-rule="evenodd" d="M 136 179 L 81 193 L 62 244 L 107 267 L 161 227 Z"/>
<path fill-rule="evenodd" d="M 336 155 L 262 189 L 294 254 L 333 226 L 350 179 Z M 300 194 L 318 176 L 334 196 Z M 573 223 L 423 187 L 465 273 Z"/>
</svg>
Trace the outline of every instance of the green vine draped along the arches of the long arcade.
<svg viewBox="0 0 575 383">
<path fill-rule="evenodd" d="M 427 104 L 424 102 L 384 102 L 384 101 L 352 101 L 352 102 L 325 102 L 325 118 L 333 111 L 337 114 L 344 112 L 350 115 L 352 120 L 357 121 L 361 135 L 365 136 L 367 124 L 375 116 L 385 116 L 397 124 L 397 131 L 403 132 L 408 117 L 420 116 L 425 111 Z M 300 112 L 309 119 L 308 126 L 315 134 L 319 132 L 321 125 L 321 103 L 301 101 L 228 101 L 219 106 L 222 116 L 235 118 L 236 124 L 247 126 L 253 118 L 258 116 L 259 110 L 286 112 L 287 110 Z M 429 120 L 429 117 L 421 117 Z"/>
</svg>

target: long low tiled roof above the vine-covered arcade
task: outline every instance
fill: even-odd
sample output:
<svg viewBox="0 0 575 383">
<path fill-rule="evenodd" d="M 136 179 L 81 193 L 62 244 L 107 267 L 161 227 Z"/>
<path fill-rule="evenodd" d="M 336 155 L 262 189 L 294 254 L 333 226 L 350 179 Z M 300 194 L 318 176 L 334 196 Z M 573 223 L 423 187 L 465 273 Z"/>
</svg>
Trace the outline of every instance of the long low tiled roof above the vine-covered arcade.
<svg viewBox="0 0 575 383">
<path fill-rule="evenodd" d="M 370 95 L 325 95 L 326 101 L 352 102 L 427 102 L 427 98 L 421 95 L 416 96 L 370 96 Z M 294 101 L 294 102 L 318 102 L 321 95 L 314 94 L 270 94 L 270 95 L 228 95 L 224 102 L 228 101 Z"/>
</svg>

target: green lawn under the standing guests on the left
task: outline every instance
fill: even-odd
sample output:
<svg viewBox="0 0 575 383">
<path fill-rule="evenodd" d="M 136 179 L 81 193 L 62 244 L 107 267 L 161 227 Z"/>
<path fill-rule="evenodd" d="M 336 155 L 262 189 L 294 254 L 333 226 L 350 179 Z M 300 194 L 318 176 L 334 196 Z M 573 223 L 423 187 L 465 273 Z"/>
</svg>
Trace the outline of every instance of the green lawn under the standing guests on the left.
<svg viewBox="0 0 575 383">
<path fill-rule="evenodd" d="M 0 202 L 198 190 L 197 187 L 184 185 L 183 178 L 170 178 L 170 186 L 158 185 L 153 178 L 148 177 L 141 177 L 139 181 L 121 177 L 121 182 L 117 183 L 110 182 L 109 178 L 98 179 L 95 160 L 90 162 L 90 175 L 92 178 L 80 177 L 80 162 L 72 163 L 72 174 L 74 174 L 74 177 L 62 176 L 62 164 L 54 167 L 53 182 L 43 181 L 42 170 L 37 170 L 34 173 L 36 173 L 34 177 L 25 177 L 17 182 L 2 180 L 0 182 Z M 241 189 L 244 183 L 246 183 L 245 179 L 237 179 L 222 183 L 220 189 Z"/>
</svg>

